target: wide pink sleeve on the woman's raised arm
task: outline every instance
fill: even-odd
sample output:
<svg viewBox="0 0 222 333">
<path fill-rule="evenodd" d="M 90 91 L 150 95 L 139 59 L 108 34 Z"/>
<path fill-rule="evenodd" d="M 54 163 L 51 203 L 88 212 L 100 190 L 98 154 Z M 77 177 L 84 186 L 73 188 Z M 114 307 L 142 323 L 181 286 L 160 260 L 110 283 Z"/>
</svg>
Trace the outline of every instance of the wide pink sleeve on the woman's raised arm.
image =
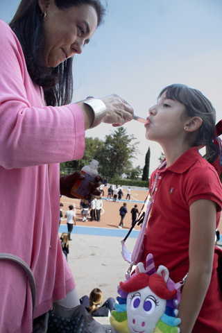
<svg viewBox="0 0 222 333">
<path fill-rule="evenodd" d="M 45 107 L 21 46 L 0 20 L 0 165 L 6 169 L 79 160 L 85 148 L 78 105 Z"/>
</svg>

